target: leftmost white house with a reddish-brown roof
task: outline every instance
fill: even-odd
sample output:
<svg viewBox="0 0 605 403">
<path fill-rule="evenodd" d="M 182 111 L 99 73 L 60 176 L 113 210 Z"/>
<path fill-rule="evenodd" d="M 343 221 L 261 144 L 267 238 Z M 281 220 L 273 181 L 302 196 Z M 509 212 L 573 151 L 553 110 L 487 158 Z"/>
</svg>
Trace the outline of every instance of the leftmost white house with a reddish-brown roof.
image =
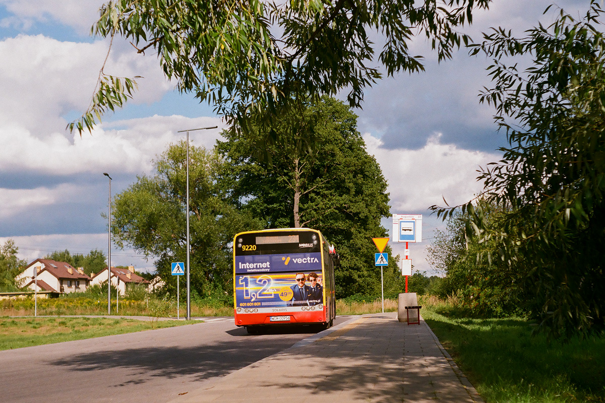
<svg viewBox="0 0 605 403">
<path fill-rule="evenodd" d="M 92 279 L 83 269 L 51 259 L 36 259 L 17 277 L 19 284 L 37 291 L 69 292 L 86 291 Z"/>
</svg>

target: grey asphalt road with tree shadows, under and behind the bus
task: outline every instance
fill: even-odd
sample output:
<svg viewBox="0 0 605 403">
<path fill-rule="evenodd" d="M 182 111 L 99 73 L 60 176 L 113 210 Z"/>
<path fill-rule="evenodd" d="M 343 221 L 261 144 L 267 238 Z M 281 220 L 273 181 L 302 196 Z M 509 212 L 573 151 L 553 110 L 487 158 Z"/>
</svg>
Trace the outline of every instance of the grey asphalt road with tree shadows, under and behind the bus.
<svg viewBox="0 0 605 403">
<path fill-rule="evenodd" d="M 313 334 L 303 327 L 250 336 L 233 318 L 214 318 L 0 351 L 0 401 L 163 403 Z"/>
</svg>

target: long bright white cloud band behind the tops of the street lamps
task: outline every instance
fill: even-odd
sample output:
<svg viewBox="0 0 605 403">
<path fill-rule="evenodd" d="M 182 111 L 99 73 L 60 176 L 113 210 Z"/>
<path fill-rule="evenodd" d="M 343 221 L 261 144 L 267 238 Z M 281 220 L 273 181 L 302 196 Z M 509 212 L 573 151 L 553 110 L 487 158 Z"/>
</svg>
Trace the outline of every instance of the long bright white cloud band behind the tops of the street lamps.
<svg viewBox="0 0 605 403">
<path fill-rule="evenodd" d="M 186 138 L 183 129 L 219 126 L 190 133 L 191 144 L 211 148 L 224 124 L 219 118 L 188 118 L 178 115 L 117 121 L 105 129 L 96 127 L 71 141 L 61 133 L 36 137 L 27 129 L 0 126 L 0 171 L 68 176 L 77 173 L 122 172 L 142 175 L 152 170 L 152 160 L 168 144 Z M 111 127 L 120 127 L 113 129 Z"/>
</svg>

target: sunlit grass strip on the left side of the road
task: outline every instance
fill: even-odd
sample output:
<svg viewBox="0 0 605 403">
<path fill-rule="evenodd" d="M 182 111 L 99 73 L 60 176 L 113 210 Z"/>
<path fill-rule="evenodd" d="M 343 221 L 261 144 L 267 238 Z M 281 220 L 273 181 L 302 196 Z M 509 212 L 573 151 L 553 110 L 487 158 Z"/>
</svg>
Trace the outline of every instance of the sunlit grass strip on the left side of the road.
<svg viewBox="0 0 605 403">
<path fill-rule="evenodd" d="M 192 323 L 199 323 L 199 321 L 140 321 L 86 317 L 0 317 L 0 350 L 119 335 Z"/>
</svg>

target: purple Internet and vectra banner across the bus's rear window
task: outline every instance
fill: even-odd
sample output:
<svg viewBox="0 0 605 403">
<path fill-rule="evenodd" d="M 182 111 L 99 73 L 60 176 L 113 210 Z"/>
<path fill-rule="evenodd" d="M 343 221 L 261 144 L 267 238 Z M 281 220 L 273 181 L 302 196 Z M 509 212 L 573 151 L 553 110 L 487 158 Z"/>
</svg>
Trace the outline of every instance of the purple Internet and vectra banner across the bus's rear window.
<svg viewBox="0 0 605 403">
<path fill-rule="evenodd" d="M 321 272 L 321 253 L 235 256 L 235 274 L 262 274 L 284 271 Z"/>
</svg>

